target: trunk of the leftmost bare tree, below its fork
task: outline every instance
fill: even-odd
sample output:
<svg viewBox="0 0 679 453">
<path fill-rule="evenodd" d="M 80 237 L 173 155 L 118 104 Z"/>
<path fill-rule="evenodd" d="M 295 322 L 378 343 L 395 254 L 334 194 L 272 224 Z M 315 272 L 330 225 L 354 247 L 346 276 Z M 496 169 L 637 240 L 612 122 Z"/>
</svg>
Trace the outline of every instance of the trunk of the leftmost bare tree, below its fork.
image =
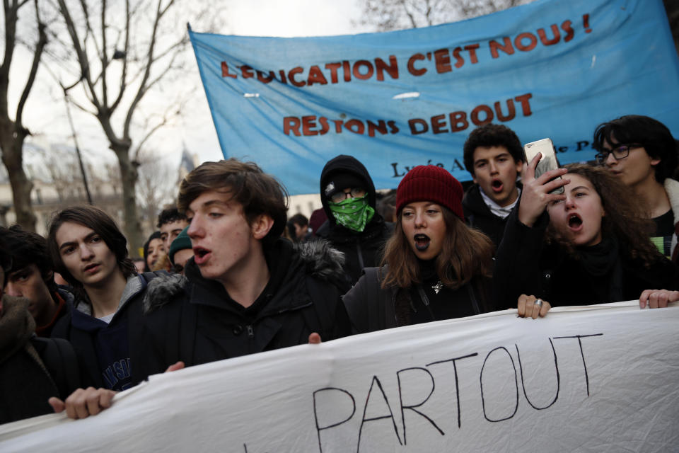
<svg viewBox="0 0 679 453">
<path fill-rule="evenodd" d="M 33 207 L 31 207 L 30 203 L 30 191 L 33 190 L 33 183 L 28 180 L 26 173 L 23 171 L 23 157 L 21 154 L 25 135 L 17 134 L 14 131 L 14 123 L 12 121 L 0 125 L 0 134 L 2 162 L 5 164 L 9 174 L 16 223 L 20 224 L 23 229 L 35 231 L 35 214 L 33 214 Z"/>
</svg>

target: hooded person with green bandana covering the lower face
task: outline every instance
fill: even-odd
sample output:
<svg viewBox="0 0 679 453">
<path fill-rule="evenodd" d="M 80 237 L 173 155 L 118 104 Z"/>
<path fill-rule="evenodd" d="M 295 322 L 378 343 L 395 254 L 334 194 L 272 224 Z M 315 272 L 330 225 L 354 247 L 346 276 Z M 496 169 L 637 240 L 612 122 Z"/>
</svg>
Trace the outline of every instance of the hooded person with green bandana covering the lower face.
<svg viewBox="0 0 679 453">
<path fill-rule="evenodd" d="M 353 156 L 340 155 L 323 167 L 320 194 L 327 221 L 316 236 L 344 253 L 347 288 L 359 280 L 363 268 L 380 262 L 393 224 L 376 211 L 376 193 L 366 167 Z"/>
</svg>

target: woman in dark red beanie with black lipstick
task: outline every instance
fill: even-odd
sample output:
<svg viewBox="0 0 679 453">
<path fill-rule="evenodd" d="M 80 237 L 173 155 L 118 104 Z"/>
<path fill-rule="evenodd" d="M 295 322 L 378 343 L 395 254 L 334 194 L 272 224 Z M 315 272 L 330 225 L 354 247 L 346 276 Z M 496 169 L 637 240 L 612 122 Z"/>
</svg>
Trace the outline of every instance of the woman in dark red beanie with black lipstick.
<svg viewBox="0 0 679 453">
<path fill-rule="evenodd" d="M 381 267 L 366 268 L 344 296 L 356 333 L 492 311 L 493 244 L 465 225 L 462 197 L 460 182 L 438 166 L 401 180 Z"/>
</svg>

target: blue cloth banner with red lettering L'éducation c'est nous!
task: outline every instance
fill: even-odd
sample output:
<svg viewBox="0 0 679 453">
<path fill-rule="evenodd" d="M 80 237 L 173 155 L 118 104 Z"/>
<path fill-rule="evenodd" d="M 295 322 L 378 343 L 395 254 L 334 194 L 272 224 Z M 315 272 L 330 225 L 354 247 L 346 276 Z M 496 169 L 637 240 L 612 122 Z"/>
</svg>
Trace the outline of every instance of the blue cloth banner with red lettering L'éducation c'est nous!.
<svg viewBox="0 0 679 453">
<path fill-rule="evenodd" d="M 226 157 L 291 194 L 318 193 L 337 154 L 376 188 L 409 168 L 471 177 L 463 144 L 497 122 L 550 137 L 559 161 L 593 159 L 595 127 L 649 115 L 679 133 L 679 61 L 661 0 L 538 0 L 429 28 L 318 38 L 190 32 Z"/>
</svg>

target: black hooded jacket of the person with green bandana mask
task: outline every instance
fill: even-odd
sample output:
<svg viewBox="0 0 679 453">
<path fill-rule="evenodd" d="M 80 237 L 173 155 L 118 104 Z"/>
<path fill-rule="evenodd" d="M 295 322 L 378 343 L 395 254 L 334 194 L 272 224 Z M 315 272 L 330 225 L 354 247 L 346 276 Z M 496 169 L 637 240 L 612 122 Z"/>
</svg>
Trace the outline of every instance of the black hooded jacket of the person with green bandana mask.
<svg viewBox="0 0 679 453">
<path fill-rule="evenodd" d="M 393 233 L 394 225 L 385 222 L 377 212 L 375 212 L 371 221 L 366 224 L 364 231 L 360 233 L 337 224 L 330 211 L 325 192 L 332 178 L 342 173 L 348 173 L 355 179 L 362 181 L 364 183 L 363 188 L 366 190 L 368 205 L 373 209 L 376 207 L 375 185 L 366 167 L 353 156 L 345 156 L 344 154 L 337 156 L 325 164 L 323 172 L 320 174 L 320 198 L 323 202 L 323 210 L 327 215 L 327 221 L 316 231 L 316 236 L 326 239 L 334 248 L 344 253 L 344 273 L 349 285 L 354 285 L 359 280 L 363 268 L 372 268 L 380 264 L 384 243 Z M 338 187 L 337 189 L 344 188 Z"/>
</svg>

